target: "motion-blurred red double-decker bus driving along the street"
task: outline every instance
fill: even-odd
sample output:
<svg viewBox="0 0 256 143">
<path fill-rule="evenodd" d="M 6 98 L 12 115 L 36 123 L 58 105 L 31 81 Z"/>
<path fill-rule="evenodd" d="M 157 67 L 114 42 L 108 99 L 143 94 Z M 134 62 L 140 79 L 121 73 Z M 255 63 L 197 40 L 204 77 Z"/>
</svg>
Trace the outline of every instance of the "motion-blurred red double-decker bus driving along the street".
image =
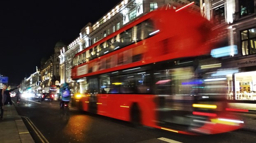
<svg viewBox="0 0 256 143">
<path fill-rule="evenodd" d="M 159 9 L 83 49 L 71 69 L 78 108 L 182 134 L 240 128 L 226 111 L 225 78 L 209 74 L 219 68 L 212 27 L 191 11 Z"/>
</svg>

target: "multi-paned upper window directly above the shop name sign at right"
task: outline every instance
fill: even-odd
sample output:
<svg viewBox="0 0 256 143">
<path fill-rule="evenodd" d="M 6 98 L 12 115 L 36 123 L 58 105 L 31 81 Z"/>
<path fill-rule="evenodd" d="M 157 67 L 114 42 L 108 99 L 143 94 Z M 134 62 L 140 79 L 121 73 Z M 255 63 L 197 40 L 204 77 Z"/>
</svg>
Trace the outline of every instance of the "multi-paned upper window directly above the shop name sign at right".
<svg viewBox="0 0 256 143">
<path fill-rule="evenodd" d="M 240 32 L 242 55 L 256 54 L 256 29 L 247 29 Z"/>
</svg>

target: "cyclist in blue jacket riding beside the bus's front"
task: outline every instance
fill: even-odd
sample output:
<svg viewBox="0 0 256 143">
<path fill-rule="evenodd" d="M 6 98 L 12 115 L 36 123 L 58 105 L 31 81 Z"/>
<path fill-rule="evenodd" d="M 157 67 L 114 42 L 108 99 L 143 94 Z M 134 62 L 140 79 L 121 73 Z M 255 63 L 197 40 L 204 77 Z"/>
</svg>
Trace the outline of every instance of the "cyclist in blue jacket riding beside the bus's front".
<svg viewBox="0 0 256 143">
<path fill-rule="evenodd" d="M 60 94 L 58 99 L 60 100 L 61 96 L 61 102 L 60 102 L 60 109 L 64 106 L 64 103 L 69 103 L 70 98 L 71 98 L 71 92 L 69 89 L 68 83 L 64 83 L 63 86 L 60 88 Z"/>
</svg>

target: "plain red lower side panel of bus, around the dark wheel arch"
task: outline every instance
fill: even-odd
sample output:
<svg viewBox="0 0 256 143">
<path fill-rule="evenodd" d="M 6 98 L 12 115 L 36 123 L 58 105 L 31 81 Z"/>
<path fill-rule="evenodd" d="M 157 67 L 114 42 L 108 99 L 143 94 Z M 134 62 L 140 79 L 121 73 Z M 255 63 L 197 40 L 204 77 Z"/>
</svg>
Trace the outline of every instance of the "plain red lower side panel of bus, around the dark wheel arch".
<svg viewBox="0 0 256 143">
<path fill-rule="evenodd" d="M 141 123 L 154 127 L 156 108 L 154 98 L 154 95 L 98 94 L 98 114 L 131 121 L 131 108 L 136 103 L 141 113 Z"/>
</svg>

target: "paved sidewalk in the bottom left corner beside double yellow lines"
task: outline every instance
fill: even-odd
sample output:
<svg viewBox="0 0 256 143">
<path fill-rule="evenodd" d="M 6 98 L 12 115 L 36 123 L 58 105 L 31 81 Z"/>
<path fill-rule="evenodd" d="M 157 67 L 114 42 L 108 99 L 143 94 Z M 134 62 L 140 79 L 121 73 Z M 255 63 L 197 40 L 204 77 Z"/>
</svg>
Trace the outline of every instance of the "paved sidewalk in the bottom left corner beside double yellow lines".
<svg viewBox="0 0 256 143">
<path fill-rule="evenodd" d="M 0 143 L 35 143 L 14 105 L 5 105 L 3 118 L 0 120 Z"/>
</svg>

